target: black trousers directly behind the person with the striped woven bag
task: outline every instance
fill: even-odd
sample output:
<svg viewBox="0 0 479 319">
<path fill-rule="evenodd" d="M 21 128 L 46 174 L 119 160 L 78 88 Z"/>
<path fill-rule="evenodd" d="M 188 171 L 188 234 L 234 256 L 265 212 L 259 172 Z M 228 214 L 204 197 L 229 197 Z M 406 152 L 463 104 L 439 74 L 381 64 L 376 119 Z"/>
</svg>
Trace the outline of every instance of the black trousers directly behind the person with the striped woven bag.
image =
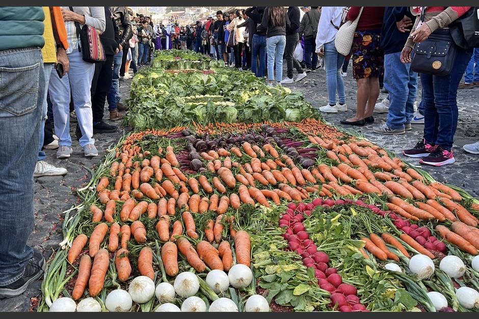
<svg viewBox="0 0 479 319">
<path fill-rule="evenodd" d="M 112 86 L 113 60 L 114 55 L 107 55 L 107 60 L 95 64 L 91 86 L 94 125 L 103 120 L 105 100 L 107 100 L 107 94 Z"/>
</svg>

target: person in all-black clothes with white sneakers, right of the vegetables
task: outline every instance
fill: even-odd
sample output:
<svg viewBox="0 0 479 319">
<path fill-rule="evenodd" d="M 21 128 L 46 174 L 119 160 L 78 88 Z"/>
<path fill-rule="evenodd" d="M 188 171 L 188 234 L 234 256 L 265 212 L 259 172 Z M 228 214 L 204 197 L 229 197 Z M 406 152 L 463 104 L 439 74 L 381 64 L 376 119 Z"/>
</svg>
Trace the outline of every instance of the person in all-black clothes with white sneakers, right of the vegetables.
<svg viewBox="0 0 479 319">
<path fill-rule="evenodd" d="M 296 46 L 299 43 L 299 26 L 300 26 L 300 10 L 298 7 L 288 7 L 288 18 L 291 23 L 288 30 L 286 30 L 286 66 L 287 66 L 287 77 L 281 81 L 281 84 L 293 83 L 295 80 L 292 79 L 292 71 L 296 69 L 298 72 L 298 77 L 296 82 L 301 81 L 306 77 L 306 72 L 301 67 L 298 60 L 295 59 L 294 53 Z"/>
</svg>

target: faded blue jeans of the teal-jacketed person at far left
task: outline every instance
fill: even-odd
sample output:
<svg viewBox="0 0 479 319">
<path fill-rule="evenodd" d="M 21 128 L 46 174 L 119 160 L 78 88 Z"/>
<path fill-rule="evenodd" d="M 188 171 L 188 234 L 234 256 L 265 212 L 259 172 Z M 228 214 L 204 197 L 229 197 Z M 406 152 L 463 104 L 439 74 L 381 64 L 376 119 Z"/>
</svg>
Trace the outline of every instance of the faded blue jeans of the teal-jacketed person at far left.
<svg viewBox="0 0 479 319">
<path fill-rule="evenodd" d="M 0 51 L 0 286 L 23 275 L 33 249 L 33 171 L 45 94 L 40 48 Z"/>
</svg>

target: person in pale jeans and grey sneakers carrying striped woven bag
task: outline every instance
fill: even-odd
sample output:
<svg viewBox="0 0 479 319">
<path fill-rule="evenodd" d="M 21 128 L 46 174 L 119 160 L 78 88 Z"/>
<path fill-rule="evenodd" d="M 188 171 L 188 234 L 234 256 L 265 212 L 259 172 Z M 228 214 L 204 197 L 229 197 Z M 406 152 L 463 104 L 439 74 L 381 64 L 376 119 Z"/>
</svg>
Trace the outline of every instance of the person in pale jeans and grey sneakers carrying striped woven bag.
<svg viewBox="0 0 479 319">
<path fill-rule="evenodd" d="M 81 132 L 80 146 L 86 157 L 98 156 L 93 139 L 93 113 L 91 102 L 91 83 L 95 64 L 83 60 L 81 43 L 77 37 L 76 26 L 90 25 L 99 32 L 105 31 L 105 12 L 103 7 L 62 7 L 63 18 L 67 28 L 70 62 L 67 74 L 60 78 L 56 70 L 51 72 L 48 93 L 53 105 L 55 132 L 59 136 L 57 158 L 70 157 L 73 152 L 70 136 L 70 100 L 73 101 L 78 127 Z"/>
</svg>

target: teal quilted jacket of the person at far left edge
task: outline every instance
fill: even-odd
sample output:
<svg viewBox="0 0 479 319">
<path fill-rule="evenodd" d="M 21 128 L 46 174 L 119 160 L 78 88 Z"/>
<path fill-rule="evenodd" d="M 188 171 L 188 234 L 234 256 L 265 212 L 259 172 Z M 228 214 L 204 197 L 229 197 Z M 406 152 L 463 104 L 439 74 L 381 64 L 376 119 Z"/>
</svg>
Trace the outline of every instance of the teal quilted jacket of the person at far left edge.
<svg viewBox="0 0 479 319">
<path fill-rule="evenodd" d="M 0 7 L 0 51 L 43 47 L 42 7 Z"/>
</svg>

